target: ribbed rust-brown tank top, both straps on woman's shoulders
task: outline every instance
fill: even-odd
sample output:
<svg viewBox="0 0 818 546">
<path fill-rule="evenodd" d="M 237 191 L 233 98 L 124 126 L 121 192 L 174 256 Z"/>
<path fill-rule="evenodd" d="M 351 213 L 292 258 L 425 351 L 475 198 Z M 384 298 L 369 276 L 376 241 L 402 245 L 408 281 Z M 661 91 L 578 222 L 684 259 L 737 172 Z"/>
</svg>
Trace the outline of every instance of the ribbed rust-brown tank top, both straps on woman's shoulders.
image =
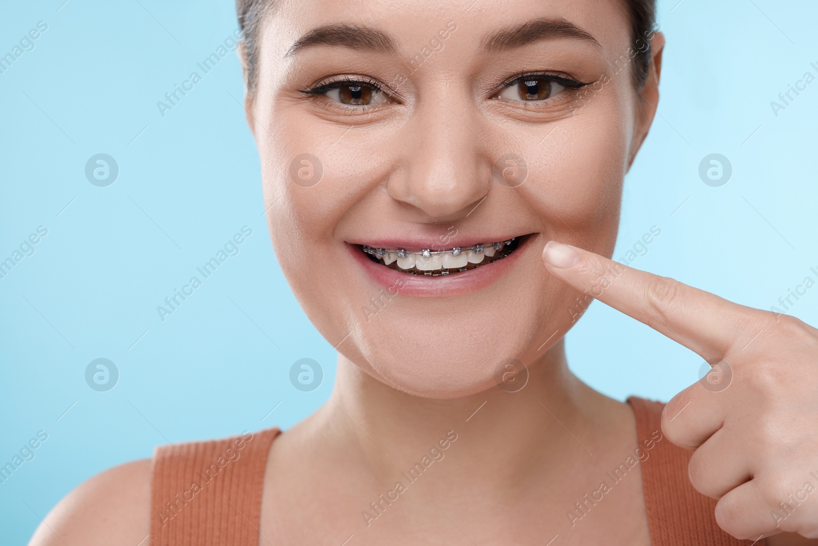
<svg viewBox="0 0 818 546">
<path fill-rule="evenodd" d="M 631 396 L 654 546 L 738 546 L 713 516 L 716 501 L 690 485 L 690 453 L 661 436 L 664 404 Z M 267 453 L 281 431 L 156 448 L 151 476 L 150 546 L 258 546 Z M 659 440 L 656 440 L 659 438 Z M 645 443 L 647 442 L 647 443 Z M 647 446 L 651 447 L 648 448 Z M 759 540 L 755 546 L 764 546 Z"/>
</svg>

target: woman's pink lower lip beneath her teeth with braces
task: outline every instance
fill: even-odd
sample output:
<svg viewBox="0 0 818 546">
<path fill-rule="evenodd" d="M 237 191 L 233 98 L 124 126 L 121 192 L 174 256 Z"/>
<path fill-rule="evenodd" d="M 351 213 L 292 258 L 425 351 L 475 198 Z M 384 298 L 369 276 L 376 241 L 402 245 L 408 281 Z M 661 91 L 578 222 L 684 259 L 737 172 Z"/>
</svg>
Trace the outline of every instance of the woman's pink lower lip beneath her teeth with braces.
<svg viewBox="0 0 818 546">
<path fill-rule="evenodd" d="M 482 290 L 493 282 L 497 282 L 508 273 L 519 260 L 520 255 L 531 246 L 533 234 L 526 237 L 510 255 L 498 259 L 491 264 L 481 265 L 478 268 L 452 273 L 449 275 L 413 275 L 401 273 L 385 265 L 369 259 L 359 246 L 345 243 L 353 255 L 353 259 L 361 265 L 363 270 L 373 281 L 384 287 L 390 294 L 396 296 L 398 292 L 403 296 L 440 297 L 463 296 L 474 291 Z"/>
</svg>

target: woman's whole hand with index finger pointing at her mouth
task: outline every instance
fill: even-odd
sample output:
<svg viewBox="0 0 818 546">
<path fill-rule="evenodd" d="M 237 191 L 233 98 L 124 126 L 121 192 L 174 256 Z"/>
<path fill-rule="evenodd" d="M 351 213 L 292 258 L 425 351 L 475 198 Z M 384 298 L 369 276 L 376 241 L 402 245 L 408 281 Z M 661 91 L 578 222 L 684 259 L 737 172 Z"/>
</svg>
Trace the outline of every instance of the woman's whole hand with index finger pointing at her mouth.
<svg viewBox="0 0 818 546">
<path fill-rule="evenodd" d="M 818 538 L 818 329 L 551 241 L 549 271 L 699 354 L 712 369 L 662 413 L 694 449 L 690 482 L 738 539 Z"/>
</svg>

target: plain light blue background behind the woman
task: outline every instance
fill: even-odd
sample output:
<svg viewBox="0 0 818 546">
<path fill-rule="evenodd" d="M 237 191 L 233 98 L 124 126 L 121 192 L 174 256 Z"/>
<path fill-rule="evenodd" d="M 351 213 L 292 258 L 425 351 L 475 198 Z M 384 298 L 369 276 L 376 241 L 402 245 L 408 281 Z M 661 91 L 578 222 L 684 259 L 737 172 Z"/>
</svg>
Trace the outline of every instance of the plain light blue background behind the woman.
<svg viewBox="0 0 818 546">
<path fill-rule="evenodd" d="M 769 309 L 818 268 L 818 83 L 778 117 L 770 106 L 818 75 L 818 6 L 676 1 L 659 7 L 662 99 L 614 257 L 656 225 L 635 267 Z M 25 544 L 76 485 L 156 444 L 293 425 L 335 376 L 267 237 L 235 54 L 164 118 L 156 107 L 236 29 L 233 2 L 63 2 L 4 0 L 0 15 L 0 55 L 48 25 L 0 74 L 0 259 L 48 230 L 0 279 L 0 464 L 48 434 L 0 484 L 2 544 Z M 84 176 L 100 152 L 119 163 L 110 187 Z M 733 165 L 723 187 L 699 179 L 712 152 Z M 156 306 L 244 225 L 240 253 L 160 322 Z M 818 288 L 793 314 L 818 325 Z M 567 339 L 573 370 L 618 399 L 667 400 L 698 378 L 697 355 L 600 303 Z M 304 357 L 326 374 L 309 393 L 288 379 Z M 97 358 L 119 368 L 109 392 L 85 383 Z"/>
</svg>

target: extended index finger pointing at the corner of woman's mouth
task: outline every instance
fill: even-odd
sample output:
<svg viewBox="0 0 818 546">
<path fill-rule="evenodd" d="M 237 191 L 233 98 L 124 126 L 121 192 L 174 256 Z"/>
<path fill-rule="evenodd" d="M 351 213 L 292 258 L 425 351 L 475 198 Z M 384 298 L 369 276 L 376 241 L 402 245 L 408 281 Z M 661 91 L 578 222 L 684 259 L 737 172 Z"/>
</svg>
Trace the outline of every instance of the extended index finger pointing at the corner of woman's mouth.
<svg viewBox="0 0 818 546">
<path fill-rule="evenodd" d="M 758 309 L 735 304 L 690 287 L 614 262 L 588 250 L 549 241 L 542 259 L 556 278 L 699 354 L 721 359 L 739 338 L 747 337 L 748 320 Z"/>
</svg>

